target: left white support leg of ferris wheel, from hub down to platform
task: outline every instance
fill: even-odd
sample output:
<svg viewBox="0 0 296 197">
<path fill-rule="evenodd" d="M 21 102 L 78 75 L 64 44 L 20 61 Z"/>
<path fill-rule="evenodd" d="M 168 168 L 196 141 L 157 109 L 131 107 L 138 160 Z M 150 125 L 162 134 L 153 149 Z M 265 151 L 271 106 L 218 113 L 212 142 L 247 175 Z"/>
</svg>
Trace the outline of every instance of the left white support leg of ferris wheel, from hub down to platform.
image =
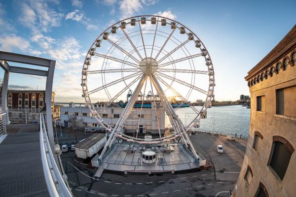
<svg viewBox="0 0 296 197">
<path fill-rule="evenodd" d="M 110 142 L 112 142 L 112 143 L 114 142 L 114 140 L 115 140 L 115 136 L 114 136 L 115 132 L 117 132 L 118 128 L 119 128 L 119 131 L 120 131 L 120 129 L 121 129 L 121 127 L 122 127 L 124 121 L 126 120 L 126 118 L 127 118 L 128 115 L 129 115 L 128 113 L 130 112 L 130 110 L 131 110 L 132 107 L 134 106 L 135 98 L 136 98 L 135 95 L 139 95 L 140 90 L 141 90 L 141 88 L 143 87 L 144 82 L 146 81 L 146 79 L 147 79 L 147 75 L 146 75 L 146 74 L 143 74 L 142 78 L 140 79 L 140 81 L 139 81 L 139 83 L 138 83 L 138 85 L 137 85 L 137 87 L 136 87 L 136 89 L 135 89 L 135 91 L 134 91 L 134 94 L 133 94 L 132 97 L 129 99 L 129 101 L 128 101 L 128 103 L 126 104 L 124 110 L 122 111 L 121 116 L 119 117 L 119 119 L 118 119 L 118 121 L 117 121 L 117 123 L 116 123 L 114 129 L 112 130 L 111 135 L 110 135 L 109 139 L 107 140 L 107 142 L 106 142 L 106 144 L 105 144 L 105 146 L 104 146 L 104 149 L 103 149 L 103 151 L 102 151 L 102 153 L 101 153 L 99 159 L 102 159 L 102 157 L 103 157 L 103 155 L 105 154 L 105 152 L 106 152 L 108 146 L 111 144 Z"/>
</svg>

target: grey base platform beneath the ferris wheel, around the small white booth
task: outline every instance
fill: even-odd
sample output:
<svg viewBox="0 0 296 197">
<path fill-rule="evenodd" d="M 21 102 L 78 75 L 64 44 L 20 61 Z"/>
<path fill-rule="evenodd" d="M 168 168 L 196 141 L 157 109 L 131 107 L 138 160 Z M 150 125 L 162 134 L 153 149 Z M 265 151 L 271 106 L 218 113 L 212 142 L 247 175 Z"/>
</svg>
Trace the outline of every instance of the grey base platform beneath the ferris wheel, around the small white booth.
<svg viewBox="0 0 296 197">
<path fill-rule="evenodd" d="M 132 153 L 126 150 L 126 143 L 114 144 L 113 150 L 98 166 L 95 177 L 100 177 L 103 171 L 113 173 L 179 173 L 197 171 L 205 167 L 206 159 L 199 155 L 199 159 L 181 143 L 173 144 L 173 151 L 166 153 L 160 148 L 156 152 L 156 162 L 145 164 L 142 162 L 140 147 L 134 147 Z M 198 162 L 197 162 L 198 161 Z"/>
</svg>

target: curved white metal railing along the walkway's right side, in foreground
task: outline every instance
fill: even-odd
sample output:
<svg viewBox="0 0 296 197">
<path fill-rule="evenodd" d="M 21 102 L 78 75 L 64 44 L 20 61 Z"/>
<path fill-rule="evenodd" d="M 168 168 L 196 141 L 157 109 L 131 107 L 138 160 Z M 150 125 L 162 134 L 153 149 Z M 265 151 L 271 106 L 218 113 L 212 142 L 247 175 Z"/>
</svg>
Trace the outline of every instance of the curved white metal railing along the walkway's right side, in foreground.
<svg viewBox="0 0 296 197">
<path fill-rule="evenodd" d="M 41 161 L 48 193 L 50 197 L 72 197 L 51 152 L 42 113 L 39 120 Z"/>
</svg>

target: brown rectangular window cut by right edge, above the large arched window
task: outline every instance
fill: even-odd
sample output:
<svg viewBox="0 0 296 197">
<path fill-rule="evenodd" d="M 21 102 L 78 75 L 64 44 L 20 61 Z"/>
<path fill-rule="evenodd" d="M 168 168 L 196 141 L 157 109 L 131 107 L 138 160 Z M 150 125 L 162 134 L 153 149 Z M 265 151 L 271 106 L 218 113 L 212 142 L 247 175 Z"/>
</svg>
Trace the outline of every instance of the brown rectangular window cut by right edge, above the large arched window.
<svg viewBox="0 0 296 197">
<path fill-rule="evenodd" d="M 278 89 L 276 95 L 276 114 L 296 117 L 296 86 Z"/>
</svg>

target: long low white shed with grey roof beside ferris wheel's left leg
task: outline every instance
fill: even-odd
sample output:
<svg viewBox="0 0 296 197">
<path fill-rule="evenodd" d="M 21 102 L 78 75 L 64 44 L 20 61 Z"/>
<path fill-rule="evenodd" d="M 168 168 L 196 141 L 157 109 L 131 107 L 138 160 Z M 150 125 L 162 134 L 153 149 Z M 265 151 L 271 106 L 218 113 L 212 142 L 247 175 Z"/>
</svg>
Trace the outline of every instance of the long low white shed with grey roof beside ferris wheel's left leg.
<svg viewBox="0 0 296 197">
<path fill-rule="evenodd" d="M 85 140 L 75 145 L 75 154 L 78 158 L 86 159 L 97 154 L 107 142 L 107 136 L 103 133 L 94 133 Z"/>
</svg>

